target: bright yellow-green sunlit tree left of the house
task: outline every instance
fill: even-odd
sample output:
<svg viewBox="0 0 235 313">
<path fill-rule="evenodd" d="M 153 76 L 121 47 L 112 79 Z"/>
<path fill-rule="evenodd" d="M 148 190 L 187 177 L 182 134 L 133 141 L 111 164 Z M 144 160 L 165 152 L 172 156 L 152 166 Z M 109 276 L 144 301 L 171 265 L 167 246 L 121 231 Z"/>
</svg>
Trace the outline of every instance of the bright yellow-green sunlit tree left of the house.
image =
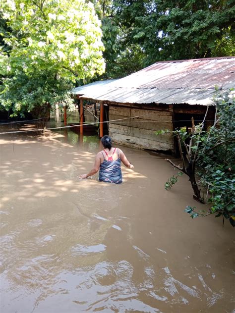
<svg viewBox="0 0 235 313">
<path fill-rule="evenodd" d="M 83 0 L 2 0 L 0 102 L 12 116 L 72 107 L 71 87 L 102 74 L 101 22 Z M 4 25 L 4 24 L 3 24 Z M 1 27 L 1 29 L 3 29 Z M 7 48 L 7 49 L 6 49 Z"/>
</svg>

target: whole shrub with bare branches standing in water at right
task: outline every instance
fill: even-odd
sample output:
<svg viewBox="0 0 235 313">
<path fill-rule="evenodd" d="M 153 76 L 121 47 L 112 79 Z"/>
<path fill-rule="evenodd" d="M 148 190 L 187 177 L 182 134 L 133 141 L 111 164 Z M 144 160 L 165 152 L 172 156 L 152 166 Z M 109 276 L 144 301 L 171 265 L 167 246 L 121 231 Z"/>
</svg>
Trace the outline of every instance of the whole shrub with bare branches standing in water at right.
<svg viewBox="0 0 235 313">
<path fill-rule="evenodd" d="M 200 188 L 207 190 L 209 212 L 197 212 L 195 207 L 187 206 L 185 211 L 192 218 L 215 214 L 228 218 L 235 226 L 235 98 L 224 95 L 215 103 L 215 122 L 209 131 L 204 130 L 204 121 L 197 126 L 192 121 L 191 133 L 174 131 L 182 165 L 167 161 L 189 177 L 194 199 L 204 203 Z M 177 182 L 177 176 L 169 179 L 165 189 Z"/>
</svg>

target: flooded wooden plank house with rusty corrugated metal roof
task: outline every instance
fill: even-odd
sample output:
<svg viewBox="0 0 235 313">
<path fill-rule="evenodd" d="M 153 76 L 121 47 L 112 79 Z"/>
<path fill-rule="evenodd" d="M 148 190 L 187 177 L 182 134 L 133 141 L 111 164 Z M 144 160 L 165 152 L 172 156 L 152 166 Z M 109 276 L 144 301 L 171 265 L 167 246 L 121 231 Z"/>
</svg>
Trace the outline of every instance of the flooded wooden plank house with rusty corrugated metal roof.
<svg viewBox="0 0 235 313">
<path fill-rule="evenodd" d="M 93 100 L 109 108 L 109 134 L 119 144 L 158 151 L 174 151 L 171 133 L 157 130 L 190 127 L 203 120 L 213 124 L 213 97 L 235 87 L 235 57 L 156 62 L 136 73 L 80 91 L 81 101 Z M 82 86 L 83 87 L 83 86 Z M 98 88 L 97 88 L 98 87 Z M 84 88 L 84 87 L 83 87 Z M 101 135 L 102 135 L 101 125 Z"/>
</svg>

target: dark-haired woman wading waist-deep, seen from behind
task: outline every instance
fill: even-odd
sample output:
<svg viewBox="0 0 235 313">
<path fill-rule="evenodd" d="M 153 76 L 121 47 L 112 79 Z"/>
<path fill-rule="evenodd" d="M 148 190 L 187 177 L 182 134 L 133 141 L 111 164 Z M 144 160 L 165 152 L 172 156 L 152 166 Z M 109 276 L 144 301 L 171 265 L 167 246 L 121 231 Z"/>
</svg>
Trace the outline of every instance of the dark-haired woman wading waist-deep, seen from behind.
<svg viewBox="0 0 235 313">
<path fill-rule="evenodd" d="M 88 174 L 79 175 L 78 178 L 87 178 L 100 170 L 99 181 L 120 184 L 122 182 L 121 161 L 128 168 L 134 166 L 120 149 L 112 147 L 112 139 L 109 136 L 102 137 L 101 143 L 104 150 L 96 155 L 94 167 Z"/>
</svg>

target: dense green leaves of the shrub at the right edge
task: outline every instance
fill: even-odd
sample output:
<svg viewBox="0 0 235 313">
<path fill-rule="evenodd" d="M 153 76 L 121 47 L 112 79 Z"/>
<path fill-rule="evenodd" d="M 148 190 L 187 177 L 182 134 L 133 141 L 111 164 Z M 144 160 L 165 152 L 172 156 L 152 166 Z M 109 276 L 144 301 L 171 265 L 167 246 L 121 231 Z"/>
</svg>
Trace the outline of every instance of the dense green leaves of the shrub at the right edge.
<svg viewBox="0 0 235 313">
<path fill-rule="evenodd" d="M 200 183 L 208 188 L 211 213 L 235 220 L 235 99 L 216 100 L 217 120 L 200 138 Z"/>
</svg>

